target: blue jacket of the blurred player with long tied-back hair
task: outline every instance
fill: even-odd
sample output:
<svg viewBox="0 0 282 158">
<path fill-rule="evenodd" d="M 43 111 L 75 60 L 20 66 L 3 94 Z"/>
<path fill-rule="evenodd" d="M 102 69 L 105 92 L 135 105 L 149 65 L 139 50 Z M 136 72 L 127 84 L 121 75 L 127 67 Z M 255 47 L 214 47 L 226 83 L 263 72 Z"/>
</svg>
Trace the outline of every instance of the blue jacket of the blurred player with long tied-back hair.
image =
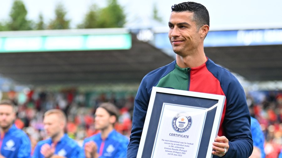
<svg viewBox="0 0 282 158">
<path fill-rule="evenodd" d="M 83 141 L 83 148 L 86 142 L 94 141 L 97 144 L 99 158 L 125 158 L 129 139 L 118 133 L 116 130 L 111 131 L 109 136 L 103 140 L 101 133 L 86 138 Z M 83 154 L 81 156 L 85 158 Z"/>
</svg>

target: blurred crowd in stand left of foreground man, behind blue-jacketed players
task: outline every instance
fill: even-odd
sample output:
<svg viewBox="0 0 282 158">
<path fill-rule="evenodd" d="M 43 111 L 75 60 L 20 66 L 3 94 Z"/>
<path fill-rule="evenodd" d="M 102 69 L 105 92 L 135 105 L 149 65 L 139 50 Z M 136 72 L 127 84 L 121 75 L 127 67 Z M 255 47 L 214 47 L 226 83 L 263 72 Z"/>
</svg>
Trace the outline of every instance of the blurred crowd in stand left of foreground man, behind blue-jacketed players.
<svg viewBox="0 0 282 158">
<path fill-rule="evenodd" d="M 25 93 L 9 91 L 3 97 L 12 100 L 18 108 L 15 124 L 29 135 L 33 148 L 38 141 L 47 137 L 44 132 L 43 115 L 47 110 L 54 108 L 65 112 L 68 135 L 82 145 L 84 138 L 98 132 L 94 128 L 94 113 L 96 107 L 102 102 L 112 102 L 118 107 L 120 116 L 115 129 L 129 139 L 134 94 L 116 97 L 106 93 L 77 93 L 75 90 Z"/>
</svg>

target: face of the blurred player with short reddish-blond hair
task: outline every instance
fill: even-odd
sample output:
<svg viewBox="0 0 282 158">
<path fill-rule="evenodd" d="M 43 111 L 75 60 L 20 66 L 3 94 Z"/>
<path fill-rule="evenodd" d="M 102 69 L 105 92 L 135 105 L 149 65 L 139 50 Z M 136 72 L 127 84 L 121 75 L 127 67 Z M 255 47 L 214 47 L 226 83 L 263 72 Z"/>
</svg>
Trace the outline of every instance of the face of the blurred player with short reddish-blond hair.
<svg viewBox="0 0 282 158">
<path fill-rule="evenodd" d="M 44 116 L 43 123 L 46 134 L 52 138 L 64 130 L 64 123 L 57 114 Z"/>
</svg>

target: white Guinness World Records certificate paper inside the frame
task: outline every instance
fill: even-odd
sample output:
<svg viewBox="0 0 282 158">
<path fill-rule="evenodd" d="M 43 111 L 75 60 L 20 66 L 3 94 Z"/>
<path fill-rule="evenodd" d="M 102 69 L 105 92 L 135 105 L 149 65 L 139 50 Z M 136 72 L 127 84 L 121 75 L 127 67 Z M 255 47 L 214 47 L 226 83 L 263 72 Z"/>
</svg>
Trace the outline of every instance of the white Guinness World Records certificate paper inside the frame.
<svg viewBox="0 0 282 158">
<path fill-rule="evenodd" d="M 151 157 L 196 157 L 205 109 L 164 103 Z"/>
</svg>

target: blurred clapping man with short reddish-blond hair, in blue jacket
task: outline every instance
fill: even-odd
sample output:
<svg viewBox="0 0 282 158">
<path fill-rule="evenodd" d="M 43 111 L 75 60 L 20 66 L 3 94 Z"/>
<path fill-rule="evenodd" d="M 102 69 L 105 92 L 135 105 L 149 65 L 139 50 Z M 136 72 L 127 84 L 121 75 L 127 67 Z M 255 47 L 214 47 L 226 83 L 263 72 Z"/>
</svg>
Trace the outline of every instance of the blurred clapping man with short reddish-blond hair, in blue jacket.
<svg viewBox="0 0 282 158">
<path fill-rule="evenodd" d="M 65 134 L 65 113 L 59 109 L 51 109 L 44 114 L 44 130 L 50 138 L 39 141 L 34 149 L 34 158 L 77 158 L 81 155 L 81 147 Z"/>
</svg>

